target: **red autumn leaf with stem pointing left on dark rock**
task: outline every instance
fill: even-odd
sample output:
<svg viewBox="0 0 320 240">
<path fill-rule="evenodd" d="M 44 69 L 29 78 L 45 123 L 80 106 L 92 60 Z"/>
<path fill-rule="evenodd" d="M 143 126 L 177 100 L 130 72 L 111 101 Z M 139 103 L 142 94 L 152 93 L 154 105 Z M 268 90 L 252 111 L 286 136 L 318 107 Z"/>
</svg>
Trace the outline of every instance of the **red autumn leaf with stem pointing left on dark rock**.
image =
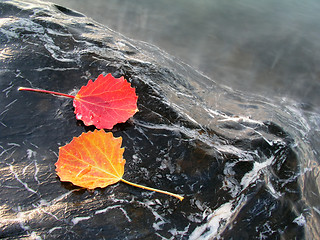
<svg viewBox="0 0 320 240">
<path fill-rule="evenodd" d="M 107 76 L 99 75 L 94 82 L 90 79 L 76 96 L 25 87 L 20 87 L 19 90 L 73 98 L 76 118 L 86 126 L 94 125 L 98 129 L 111 129 L 115 124 L 127 121 L 138 111 L 135 89 L 124 77 L 114 78 L 110 73 Z"/>
</svg>

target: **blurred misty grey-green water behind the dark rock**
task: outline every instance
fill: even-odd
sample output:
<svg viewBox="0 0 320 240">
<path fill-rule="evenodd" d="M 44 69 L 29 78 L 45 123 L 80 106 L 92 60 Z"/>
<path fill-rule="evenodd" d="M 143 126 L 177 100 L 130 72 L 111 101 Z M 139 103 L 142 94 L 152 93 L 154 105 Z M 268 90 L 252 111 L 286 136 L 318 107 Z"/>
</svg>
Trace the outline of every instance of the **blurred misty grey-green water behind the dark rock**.
<svg viewBox="0 0 320 240">
<path fill-rule="evenodd" d="M 53 2 L 155 44 L 236 90 L 320 103 L 319 1 Z"/>
</svg>

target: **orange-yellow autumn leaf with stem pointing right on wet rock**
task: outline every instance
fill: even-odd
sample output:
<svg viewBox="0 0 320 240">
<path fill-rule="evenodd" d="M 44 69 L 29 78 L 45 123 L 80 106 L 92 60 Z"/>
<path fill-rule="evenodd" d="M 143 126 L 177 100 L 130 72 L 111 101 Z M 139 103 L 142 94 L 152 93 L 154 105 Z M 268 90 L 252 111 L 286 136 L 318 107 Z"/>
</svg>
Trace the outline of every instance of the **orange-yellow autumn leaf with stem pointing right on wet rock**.
<svg viewBox="0 0 320 240">
<path fill-rule="evenodd" d="M 79 137 L 59 149 L 56 171 L 61 181 L 94 189 L 104 188 L 119 181 L 146 190 L 183 197 L 163 190 L 145 187 L 123 179 L 125 159 L 122 138 L 115 138 L 111 132 L 95 130 L 82 133 Z"/>
</svg>

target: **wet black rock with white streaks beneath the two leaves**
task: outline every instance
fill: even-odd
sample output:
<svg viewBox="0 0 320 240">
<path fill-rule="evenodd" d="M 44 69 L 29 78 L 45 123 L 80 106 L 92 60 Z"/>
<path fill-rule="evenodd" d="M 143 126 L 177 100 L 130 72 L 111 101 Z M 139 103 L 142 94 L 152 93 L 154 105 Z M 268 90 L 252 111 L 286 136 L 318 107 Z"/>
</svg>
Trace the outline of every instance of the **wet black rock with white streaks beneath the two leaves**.
<svg viewBox="0 0 320 240">
<path fill-rule="evenodd" d="M 317 234 L 316 203 L 308 205 L 301 180 L 312 172 L 301 160 L 312 162 L 306 126 L 289 109 L 221 87 L 61 6 L 2 1 L 0 16 L 1 238 Z M 74 94 L 101 73 L 125 76 L 139 96 L 139 112 L 112 130 L 123 137 L 125 179 L 182 194 L 182 202 L 123 183 L 88 191 L 59 181 L 59 146 L 94 128 L 76 120 L 69 99 L 17 88 Z"/>
</svg>

